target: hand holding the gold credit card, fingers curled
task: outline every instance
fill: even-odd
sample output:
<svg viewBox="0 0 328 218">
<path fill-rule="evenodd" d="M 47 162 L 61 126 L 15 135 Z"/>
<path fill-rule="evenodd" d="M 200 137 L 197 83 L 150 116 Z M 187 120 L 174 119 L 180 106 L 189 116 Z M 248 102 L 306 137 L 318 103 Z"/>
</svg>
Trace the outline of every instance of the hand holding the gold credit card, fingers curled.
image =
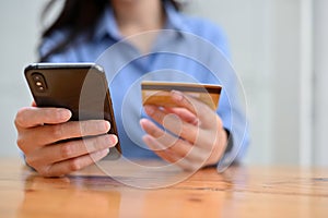
<svg viewBox="0 0 328 218">
<path fill-rule="evenodd" d="M 178 108 L 145 106 L 144 109 L 173 134 L 142 119 L 140 124 L 147 132 L 144 143 L 164 160 L 185 170 L 215 165 L 227 143 L 220 117 L 203 102 L 180 92 L 173 90 L 171 95 Z"/>
</svg>

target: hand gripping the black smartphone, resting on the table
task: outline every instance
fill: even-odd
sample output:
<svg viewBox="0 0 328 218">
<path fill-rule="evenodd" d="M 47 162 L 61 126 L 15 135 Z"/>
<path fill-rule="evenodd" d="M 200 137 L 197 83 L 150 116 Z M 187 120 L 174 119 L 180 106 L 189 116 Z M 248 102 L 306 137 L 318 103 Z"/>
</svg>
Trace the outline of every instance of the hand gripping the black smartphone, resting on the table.
<svg viewBox="0 0 328 218">
<path fill-rule="evenodd" d="M 107 134 L 108 121 L 70 118 L 71 112 L 61 108 L 25 107 L 16 113 L 17 145 L 27 165 L 44 177 L 65 175 L 90 166 L 117 144 L 117 136 Z M 82 136 L 89 137 L 62 142 Z"/>
</svg>

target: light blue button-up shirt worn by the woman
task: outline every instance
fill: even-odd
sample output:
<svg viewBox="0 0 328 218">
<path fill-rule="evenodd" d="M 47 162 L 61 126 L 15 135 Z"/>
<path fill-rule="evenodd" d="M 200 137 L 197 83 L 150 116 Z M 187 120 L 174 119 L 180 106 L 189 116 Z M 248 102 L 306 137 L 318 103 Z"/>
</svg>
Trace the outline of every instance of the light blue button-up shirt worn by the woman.
<svg viewBox="0 0 328 218">
<path fill-rule="evenodd" d="M 187 16 L 165 2 L 166 25 L 156 35 L 148 53 L 141 53 L 122 38 L 112 9 L 105 10 L 91 39 L 79 36 L 65 51 L 51 55 L 48 62 L 96 62 L 105 69 L 119 141 L 124 156 L 152 158 L 156 155 L 141 140 L 144 132 L 139 120 L 144 117 L 141 105 L 141 81 L 174 81 L 221 84 L 223 92 L 218 113 L 232 136 L 232 149 L 219 162 L 224 168 L 241 158 L 248 144 L 247 121 L 241 107 L 238 78 L 229 61 L 223 32 L 209 21 Z M 43 41 L 40 56 L 67 36 L 58 31 Z"/>
</svg>

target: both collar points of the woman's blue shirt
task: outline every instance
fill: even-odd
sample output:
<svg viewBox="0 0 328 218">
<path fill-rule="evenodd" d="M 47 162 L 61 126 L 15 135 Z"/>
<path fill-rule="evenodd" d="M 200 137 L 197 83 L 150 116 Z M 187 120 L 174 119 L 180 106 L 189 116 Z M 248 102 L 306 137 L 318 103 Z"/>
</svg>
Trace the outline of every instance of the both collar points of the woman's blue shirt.
<svg viewBox="0 0 328 218">
<path fill-rule="evenodd" d="M 178 32 L 189 32 L 190 29 L 184 21 L 184 16 L 178 12 L 169 1 L 164 1 L 164 10 L 166 12 L 165 29 L 175 29 Z M 94 38 L 101 39 L 104 36 L 110 36 L 116 40 L 121 39 L 117 23 L 115 21 L 114 11 L 112 8 L 107 8 L 101 16 Z"/>
</svg>

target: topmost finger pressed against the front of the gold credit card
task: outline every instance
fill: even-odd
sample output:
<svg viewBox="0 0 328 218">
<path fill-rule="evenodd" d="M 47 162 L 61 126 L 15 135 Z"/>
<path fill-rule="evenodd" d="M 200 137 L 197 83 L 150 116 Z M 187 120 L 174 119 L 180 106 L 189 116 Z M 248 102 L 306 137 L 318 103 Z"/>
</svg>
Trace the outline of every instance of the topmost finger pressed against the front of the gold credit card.
<svg viewBox="0 0 328 218">
<path fill-rule="evenodd" d="M 215 116 L 215 111 L 213 111 L 206 104 L 192 98 L 190 96 L 184 95 L 181 92 L 172 90 L 172 100 L 179 107 L 188 109 L 196 117 L 199 118 L 201 124 L 211 124 L 213 122 L 213 118 Z"/>
</svg>

